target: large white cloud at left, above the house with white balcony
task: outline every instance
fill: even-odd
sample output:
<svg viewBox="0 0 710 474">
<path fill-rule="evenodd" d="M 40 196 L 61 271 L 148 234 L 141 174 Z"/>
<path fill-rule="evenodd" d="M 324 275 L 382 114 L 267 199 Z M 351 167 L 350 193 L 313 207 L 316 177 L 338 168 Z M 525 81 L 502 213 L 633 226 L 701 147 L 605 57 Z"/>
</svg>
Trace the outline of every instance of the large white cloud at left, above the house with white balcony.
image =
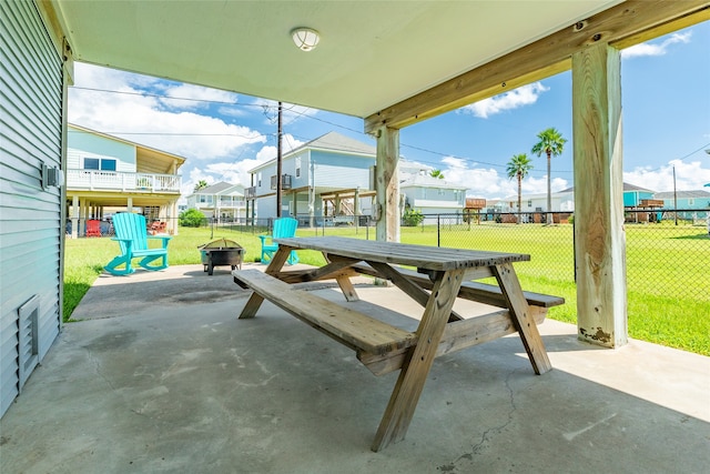
<svg viewBox="0 0 710 474">
<path fill-rule="evenodd" d="M 266 141 L 266 137 L 247 127 L 229 124 L 184 110 L 163 110 L 160 98 L 141 94 L 144 88 L 160 87 L 158 79 L 81 63 L 77 64 L 75 72 L 78 87 L 131 94 L 71 89 L 71 123 L 196 160 L 235 155 L 244 145 Z M 223 91 L 213 93 L 192 85 L 183 91 L 193 97 L 215 98 L 225 94 Z"/>
</svg>

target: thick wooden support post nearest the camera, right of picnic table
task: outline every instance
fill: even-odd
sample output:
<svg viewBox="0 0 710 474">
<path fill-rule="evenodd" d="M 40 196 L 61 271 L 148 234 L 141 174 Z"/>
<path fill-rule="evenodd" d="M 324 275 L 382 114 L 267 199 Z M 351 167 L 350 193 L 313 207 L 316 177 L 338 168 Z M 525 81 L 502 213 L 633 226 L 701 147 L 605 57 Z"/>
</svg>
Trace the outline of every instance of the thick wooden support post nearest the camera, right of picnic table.
<svg viewBox="0 0 710 474">
<path fill-rule="evenodd" d="M 628 324 L 617 49 L 572 56 L 572 110 L 578 337 L 618 347 Z"/>
</svg>

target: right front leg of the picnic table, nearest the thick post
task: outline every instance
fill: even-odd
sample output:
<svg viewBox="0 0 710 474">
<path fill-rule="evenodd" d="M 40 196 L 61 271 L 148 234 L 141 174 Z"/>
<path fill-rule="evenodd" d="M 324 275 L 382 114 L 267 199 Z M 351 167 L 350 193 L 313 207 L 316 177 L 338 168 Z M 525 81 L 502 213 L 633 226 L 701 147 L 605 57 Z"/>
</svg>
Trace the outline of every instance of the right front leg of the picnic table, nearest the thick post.
<svg viewBox="0 0 710 474">
<path fill-rule="evenodd" d="M 523 345 L 525 346 L 528 357 L 530 359 L 530 363 L 532 364 L 532 370 L 538 375 L 551 371 L 552 364 L 547 356 L 545 343 L 537 330 L 537 324 L 530 313 L 528 302 L 523 294 L 520 281 L 513 269 L 513 264 L 505 263 L 503 265 L 496 265 L 494 273 L 496 274 L 496 280 L 498 280 L 500 290 L 506 297 L 510 315 L 513 316 L 513 323 L 516 325 L 518 334 L 520 334 Z"/>
</svg>

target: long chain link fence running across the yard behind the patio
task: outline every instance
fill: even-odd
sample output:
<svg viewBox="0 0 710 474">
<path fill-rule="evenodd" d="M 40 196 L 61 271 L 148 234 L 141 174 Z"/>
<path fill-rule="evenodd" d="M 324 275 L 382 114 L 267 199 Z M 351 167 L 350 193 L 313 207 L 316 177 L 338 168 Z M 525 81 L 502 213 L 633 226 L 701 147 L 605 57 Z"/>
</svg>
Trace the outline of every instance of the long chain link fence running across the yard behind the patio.
<svg viewBox="0 0 710 474">
<path fill-rule="evenodd" d="M 627 286 L 629 292 L 710 301 L 710 228 L 708 211 L 626 212 Z M 403 226 L 403 241 L 433 246 L 530 254 L 516 265 L 521 276 L 551 285 L 575 284 L 574 216 L 554 213 L 555 225 L 545 225 L 544 212 L 534 214 L 427 214 L 415 229 Z M 311 219 L 298 215 L 298 235 L 353 235 L 374 240 L 375 222 L 367 215 Z M 516 222 L 520 220 L 520 224 Z M 313 221 L 313 222 L 312 222 Z M 436 222 L 436 224 L 430 224 Z M 176 223 L 176 222 L 175 222 Z M 313 226 L 311 224 L 314 224 Z M 151 222 L 150 233 L 171 229 L 169 222 Z M 72 222 L 67 222 L 71 235 Z M 80 236 L 112 236 L 111 220 L 78 220 Z M 213 232 L 271 232 L 273 218 L 248 220 L 203 219 L 199 226 Z"/>
</svg>

